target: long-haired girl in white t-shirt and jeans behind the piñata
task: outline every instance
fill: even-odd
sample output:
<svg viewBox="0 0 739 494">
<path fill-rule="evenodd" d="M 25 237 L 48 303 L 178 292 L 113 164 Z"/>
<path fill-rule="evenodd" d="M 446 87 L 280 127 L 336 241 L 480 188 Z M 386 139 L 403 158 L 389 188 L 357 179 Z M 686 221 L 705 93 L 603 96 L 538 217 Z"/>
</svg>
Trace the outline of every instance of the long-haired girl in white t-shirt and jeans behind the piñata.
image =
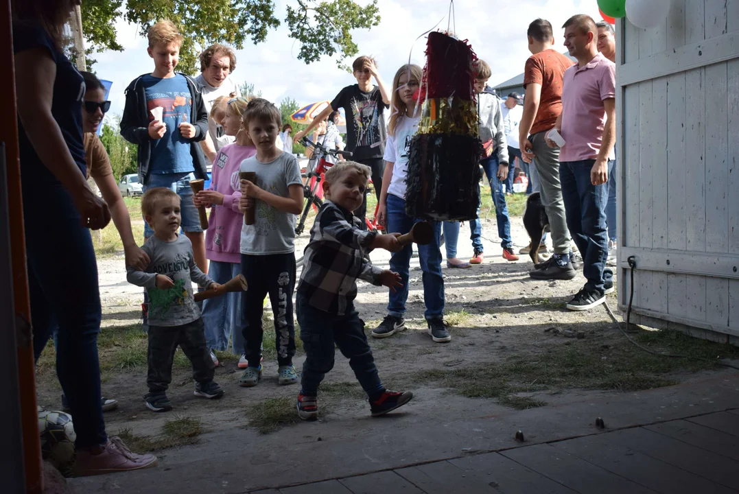
<svg viewBox="0 0 739 494">
<path fill-rule="evenodd" d="M 390 121 L 385 145 L 385 174 L 380 194 L 378 218 L 385 224 L 386 231 L 408 233 L 419 220 L 406 214 L 406 176 L 411 140 L 418 131 L 420 105 L 417 93 L 422 73 L 418 65 L 403 65 L 392 80 L 392 100 Z M 434 241 L 418 246 L 418 258 L 423 270 L 423 302 L 426 304 L 424 317 L 429 326 L 429 335 L 437 343 L 452 340 L 443 321 L 444 280 L 441 275 L 441 251 L 439 249 L 441 224 L 432 222 Z M 372 336 L 385 338 L 405 329 L 403 316 L 408 298 L 408 278 L 412 246 L 392 254 L 390 270 L 398 272 L 403 287 L 389 292 L 387 315 L 378 327 L 372 329 Z"/>
</svg>

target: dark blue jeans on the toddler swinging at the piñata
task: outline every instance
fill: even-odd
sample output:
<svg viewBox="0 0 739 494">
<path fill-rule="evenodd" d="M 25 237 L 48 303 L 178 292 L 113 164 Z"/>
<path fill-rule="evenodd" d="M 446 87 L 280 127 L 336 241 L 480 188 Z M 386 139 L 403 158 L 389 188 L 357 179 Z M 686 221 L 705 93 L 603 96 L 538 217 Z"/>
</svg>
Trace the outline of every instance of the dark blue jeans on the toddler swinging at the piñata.
<svg viewBox="0 0 739 494">
<path fill-rule="evenodd" d="M 369 397 L 382 391 L 372 349 L 367 343 L 367 335 L 364 335 L 364 321 L 359 318 L 354 305 L 347 307 L 346 315 L 333 315 L 310 305 L 300 292 L 296 294 L 295 303 L 300 339 L 305 350 L 301 381 L 303 394 L 310 397 L 318 395 L 321 381 L 333 368 L 334 345 L 349 359 L 349 366 Z"/>
</svg>

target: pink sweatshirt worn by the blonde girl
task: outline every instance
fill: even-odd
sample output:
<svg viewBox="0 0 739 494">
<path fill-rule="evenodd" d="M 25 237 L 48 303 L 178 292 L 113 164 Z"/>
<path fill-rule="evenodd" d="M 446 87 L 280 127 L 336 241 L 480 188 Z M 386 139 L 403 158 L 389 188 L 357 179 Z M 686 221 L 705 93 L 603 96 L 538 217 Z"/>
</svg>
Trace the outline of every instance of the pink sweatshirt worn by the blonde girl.
<svg viewBox="0 0 739 494">
<path fill-rule="evenodd" d="M 239 211 L 239 166 L 254 154 L 254 146 L 234 143 L 220 148 L 213 162 L 210 189 L 223 194 L 223 205 L 211 207 L 211 218 L 205 233 L 205 257 L 211 261 L 241 262 L 244 214 Z"/>
</svg>

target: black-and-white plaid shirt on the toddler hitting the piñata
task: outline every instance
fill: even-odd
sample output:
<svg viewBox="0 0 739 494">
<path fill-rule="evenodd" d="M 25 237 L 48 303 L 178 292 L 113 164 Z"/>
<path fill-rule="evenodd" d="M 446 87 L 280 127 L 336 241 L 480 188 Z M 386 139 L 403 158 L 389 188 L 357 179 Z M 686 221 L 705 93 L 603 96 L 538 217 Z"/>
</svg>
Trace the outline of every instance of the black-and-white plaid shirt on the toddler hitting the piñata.
<svg viewBox="0 0 739 494">
<path fill-rule="evenodd" d="M 360 230 L 360 224 L 333 202 L 324 202 L 319 210 L 298 282 L 298 292 L 316 309 L 344 315 L 357 296 L 357 278 L 380 285 L 382 270 L 364 258 L 377 233 Z"/>
</svg>

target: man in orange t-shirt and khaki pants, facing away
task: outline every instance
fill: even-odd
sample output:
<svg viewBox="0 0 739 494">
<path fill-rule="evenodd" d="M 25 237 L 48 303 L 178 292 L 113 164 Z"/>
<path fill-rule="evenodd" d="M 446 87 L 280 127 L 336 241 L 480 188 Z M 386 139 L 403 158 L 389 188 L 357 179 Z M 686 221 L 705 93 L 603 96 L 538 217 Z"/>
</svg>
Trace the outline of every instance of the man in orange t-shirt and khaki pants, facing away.
<svg viewBox="0 0 739 494">
<path fill-rule="evenodd" d="M 537 19 L 529 25 L 527 34 L 528 49 L 533 55 L 526 61 L 523 78 L 526 97 L 519 143 L 524 161 L 533 160 L 539 174 L 539 193 L 549 217 L 554 247 L 551 258 L 530 274 L 539 280 L 571 280 L 576 271 L 570 258 L 570 234 L 559 185 L 559 148 L 548 147 L 546 134 L 562 113 L 562 76 L 573 61 L 552 48 L 554 34 L 549 21 Z"/>
</svg>

